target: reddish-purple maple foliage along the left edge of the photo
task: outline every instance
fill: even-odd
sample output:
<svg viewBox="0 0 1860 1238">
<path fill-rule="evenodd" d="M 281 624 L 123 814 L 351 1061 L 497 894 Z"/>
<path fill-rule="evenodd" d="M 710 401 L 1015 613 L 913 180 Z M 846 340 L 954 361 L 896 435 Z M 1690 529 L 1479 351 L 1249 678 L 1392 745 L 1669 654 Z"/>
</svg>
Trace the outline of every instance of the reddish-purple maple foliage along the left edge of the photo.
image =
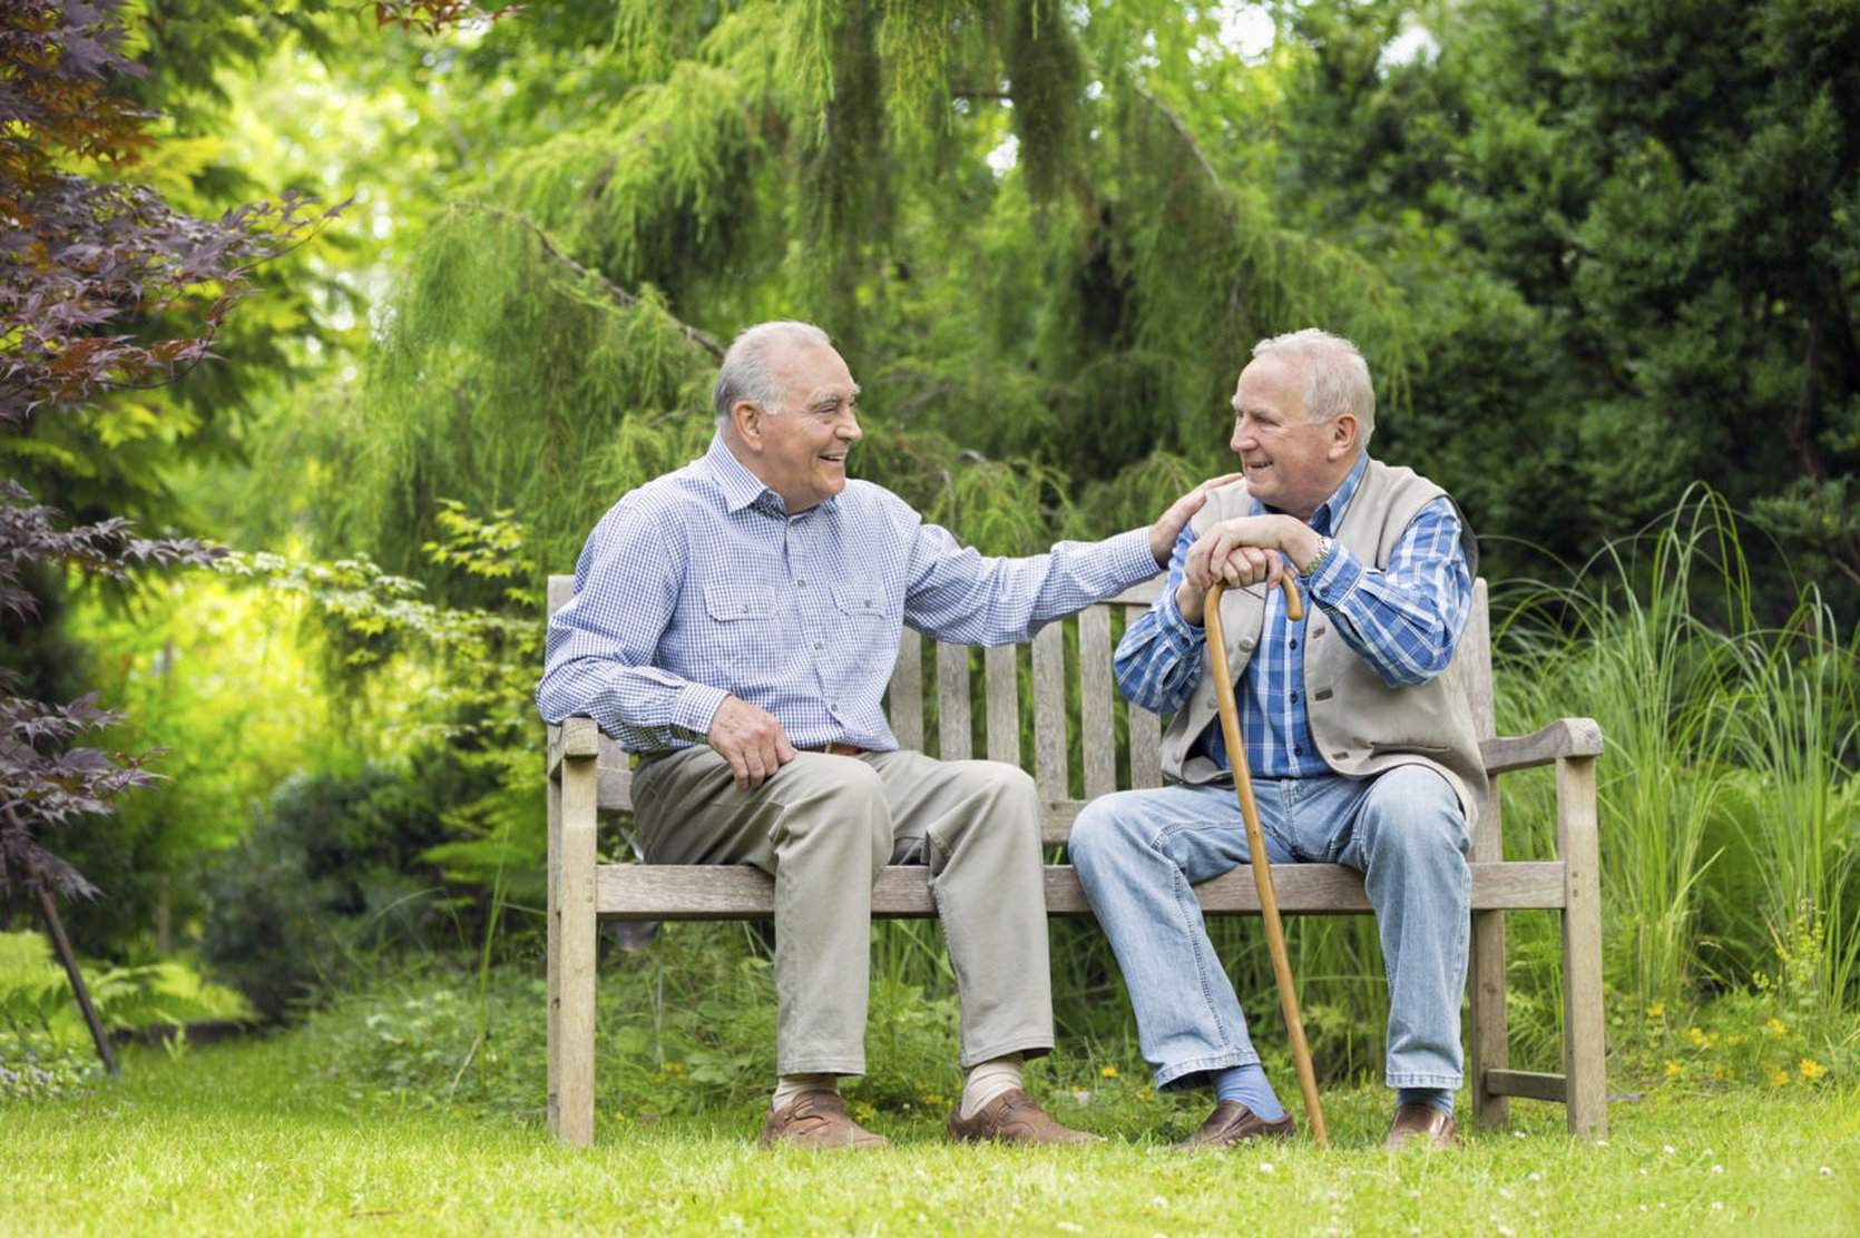
<svg viewBox="0 0 1860 1238">
<path fill-rule="evenodd" d="M 149 147 L 151 119 L 106 89 L 110 76 L 138 72 L 123 37 L 117 0 L 0 7 L 0 431 L 9 435 L 41 411 L 199 364 L 249 290 L 251 264 L 311 225 L 301 199 L 203 221 L 117 178 Z M 212 558 L 199 541 L 138 537 L 123 519 L 60 528 L 22 485 L 0 483 L 0 613 L 15 623 L 39 613 L 26 587 L 35 569 L 126 578 L 140 565 Z M 0 665 L 0 892 L 93 892 L 41 838 L 145 784 L 147 755 L 74 744 L 115 721 L 95 697 L 46 705 L 20 686 Z"/>
</svg>

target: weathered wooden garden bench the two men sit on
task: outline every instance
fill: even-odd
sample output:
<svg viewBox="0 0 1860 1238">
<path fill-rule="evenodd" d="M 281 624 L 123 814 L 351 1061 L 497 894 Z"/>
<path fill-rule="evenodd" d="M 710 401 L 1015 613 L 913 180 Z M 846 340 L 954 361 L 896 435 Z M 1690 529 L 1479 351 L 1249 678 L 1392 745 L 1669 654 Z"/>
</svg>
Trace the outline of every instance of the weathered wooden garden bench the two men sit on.
<svg viewBox="0 0 1860 1238">
<path fill-rule="evenodd" d="M 1161 578 L 1159 578 L 1161 580 Z M 1118 701 L 1110 675 L 1112 608 L 1125 623 L 1155 597 L 1159 580 L 1040 630 L 1032 645 L 980 651 L 986 751 L 990 760 L 1023 764 L 1021 678 L 1030 658 L 1032 773 L 1045 801 L 1043 835 L 1064 846 L 1084 799 L 1120 786 L 1161 784 L 1157 716 Z M 573 576 L 549 580 L 549 612 L 573 597 Z M 1068 632 L 1077 634 L 1075 675 L 1068 675 Z M 971 649 L 937 643 L 926 658 L 923 638 L 906 630 L 891 677 L 889 716 L 898 742 L 924 745 L 924 712 L 937 719 L 936 755 L 976 755 L 971 740 Z M 924 691 L 932 662 L 934 695 Z M 1494 736 L 1492 649 L 1486 582 L 1475 586 L 1473 617 L 1458 654 L 1473 716 Z M 1075 684 L 1068 680 L 1075 678 Z M 1079 734 L 1068 727 L 1066 695 L 1075 686 Z M 1125 718 L 1122 744 L 1120 718 Z M 1120 753 L 1120 747 L 1123 749 Z M 1070 794 L 1070 751 L 1083 757 L 1084 799 Z M 1492 803 L 1473 827 L 1471 1043 L 1468 1078 L 1475 1121 L 1510 1121 L 1510 1097 L 1561 1100 L 1575 1134 L 1607 1132 L 1601 1039 L 1601 900 L 1596 846 L 1596 757 L 1601 729 L 1564 718 L 1521 738 L 1481 744 L 1494 775 Z M 1497 777 L 1508 770 L 1557 766 L 1557 861 L 1507 861 L 1501 848 Z M 1118 771 L 1129 771 L 1125 779 Z M 601 920 L 766 920 L 774 881 L 750 866 L 599 864 L 601 812 L 627 812 L 627 755 L 599 734 L 593 719 L 549 727 L 549 1125 L 565 1143 L 593 1138 L 595 929 Z M 1337 864 L 1274 864 L 1272 881 L 1287 915 L 1369 913 L 1362 877 Z M 1209 915 L 1259 915 L 1244 866 L 1215 877 L 1196 894 Z M 1086 916 L 1090 907 L 1068 864 L 1045 868 L 1047 915 Z M 1507 1069 L 1505 913 L 1562 913 L 1564 1048 L 1562 1074 Z M 874 916 L 934 916 L 926 870 L 887 868 L 872 889 Z"/>
</svg>

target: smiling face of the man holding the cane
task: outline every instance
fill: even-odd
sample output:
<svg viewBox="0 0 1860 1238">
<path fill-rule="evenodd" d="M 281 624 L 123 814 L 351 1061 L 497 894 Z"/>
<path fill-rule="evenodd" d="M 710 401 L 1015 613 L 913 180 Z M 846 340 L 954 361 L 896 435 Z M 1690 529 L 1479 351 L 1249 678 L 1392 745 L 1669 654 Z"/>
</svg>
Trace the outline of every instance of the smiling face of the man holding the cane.
<svg viewBox="0 0 1860 1238">
<path fill-rule="evenodd" d="M 1246 491 L 1267 507 L 1309 520 L 1356 463 L 1356 415 L 1313 422 L 1304 407 L 1306 370 L 1265 355 L 1241 370 L 1233 389 L 1233 439 Z"/>
</svg>

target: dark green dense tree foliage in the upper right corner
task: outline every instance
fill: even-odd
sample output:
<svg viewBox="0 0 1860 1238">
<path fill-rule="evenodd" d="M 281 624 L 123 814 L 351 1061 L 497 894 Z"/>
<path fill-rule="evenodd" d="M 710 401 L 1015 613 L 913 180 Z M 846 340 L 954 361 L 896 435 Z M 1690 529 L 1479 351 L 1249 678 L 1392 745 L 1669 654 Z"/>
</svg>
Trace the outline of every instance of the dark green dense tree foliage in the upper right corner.
<svg viewBox="0 0 1860 1238">
<path fill-rule="evenodd" d="M 1415 17 L 1432 50 L 1386 63 Z M 1579 561 L 1706 481 L 1860 613 L 1860 11 L 1378 2 L 1296 26 L 1282 193 L 1410 292 L 1428 377 L 1393 429 L 1482 532 Z"/>
</svg>

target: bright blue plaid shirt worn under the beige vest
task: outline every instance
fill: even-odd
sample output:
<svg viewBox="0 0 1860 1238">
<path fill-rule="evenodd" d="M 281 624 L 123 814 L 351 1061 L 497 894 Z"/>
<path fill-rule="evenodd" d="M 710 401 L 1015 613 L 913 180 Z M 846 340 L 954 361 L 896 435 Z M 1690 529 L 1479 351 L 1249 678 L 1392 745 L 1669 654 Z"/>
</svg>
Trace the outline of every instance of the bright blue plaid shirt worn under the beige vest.
<svg viewBox="0 0 1860 1238">
<path fill-rule="evenodd" d="M 1350 496 L 1362 483 L 1367 455 L 1358 457 L 1337 493 L 1311 513 L 1311 528 L 1330 535 L 1343 520 Z M 1267 507 L 1254 502 L 1254 515 Z M 1174 714 L 1189 703 L 1202 677 L 1207 632 L 1181 617 L 1176 589 L 1194 532 L 1183 530 L 1170 556 L 1162 595 L 1118 643 L 1116 675 L 1125 699 L 1153 714 Z M 1389 686 L 1423 684 L 1447 669 L 1453 649 L 1466 628 L 1473 600 L 1473 578 L 1460 547 L 1460 517 L 1445 496 L 1421 507 L 1408 532 L 1395 543 L 1388 571 L 1376 571 L 1341 545 L 1317 573 L 1298 582 L 1309 604 L 1321 606 L 1337 634 Z M 1315 777 L 1328 773 L 1304 705 L 1304 621 L 1285 619 L 1285 595 L 1267 595 L 1265 626 L 1241 680 L 1235 705 L 1246 740 L 1248 770 L 1254 777 Z M 1222 770 L 1228 744 L 1220 727 L 1209 727 L 1198 740 Z"/>
</svg>

